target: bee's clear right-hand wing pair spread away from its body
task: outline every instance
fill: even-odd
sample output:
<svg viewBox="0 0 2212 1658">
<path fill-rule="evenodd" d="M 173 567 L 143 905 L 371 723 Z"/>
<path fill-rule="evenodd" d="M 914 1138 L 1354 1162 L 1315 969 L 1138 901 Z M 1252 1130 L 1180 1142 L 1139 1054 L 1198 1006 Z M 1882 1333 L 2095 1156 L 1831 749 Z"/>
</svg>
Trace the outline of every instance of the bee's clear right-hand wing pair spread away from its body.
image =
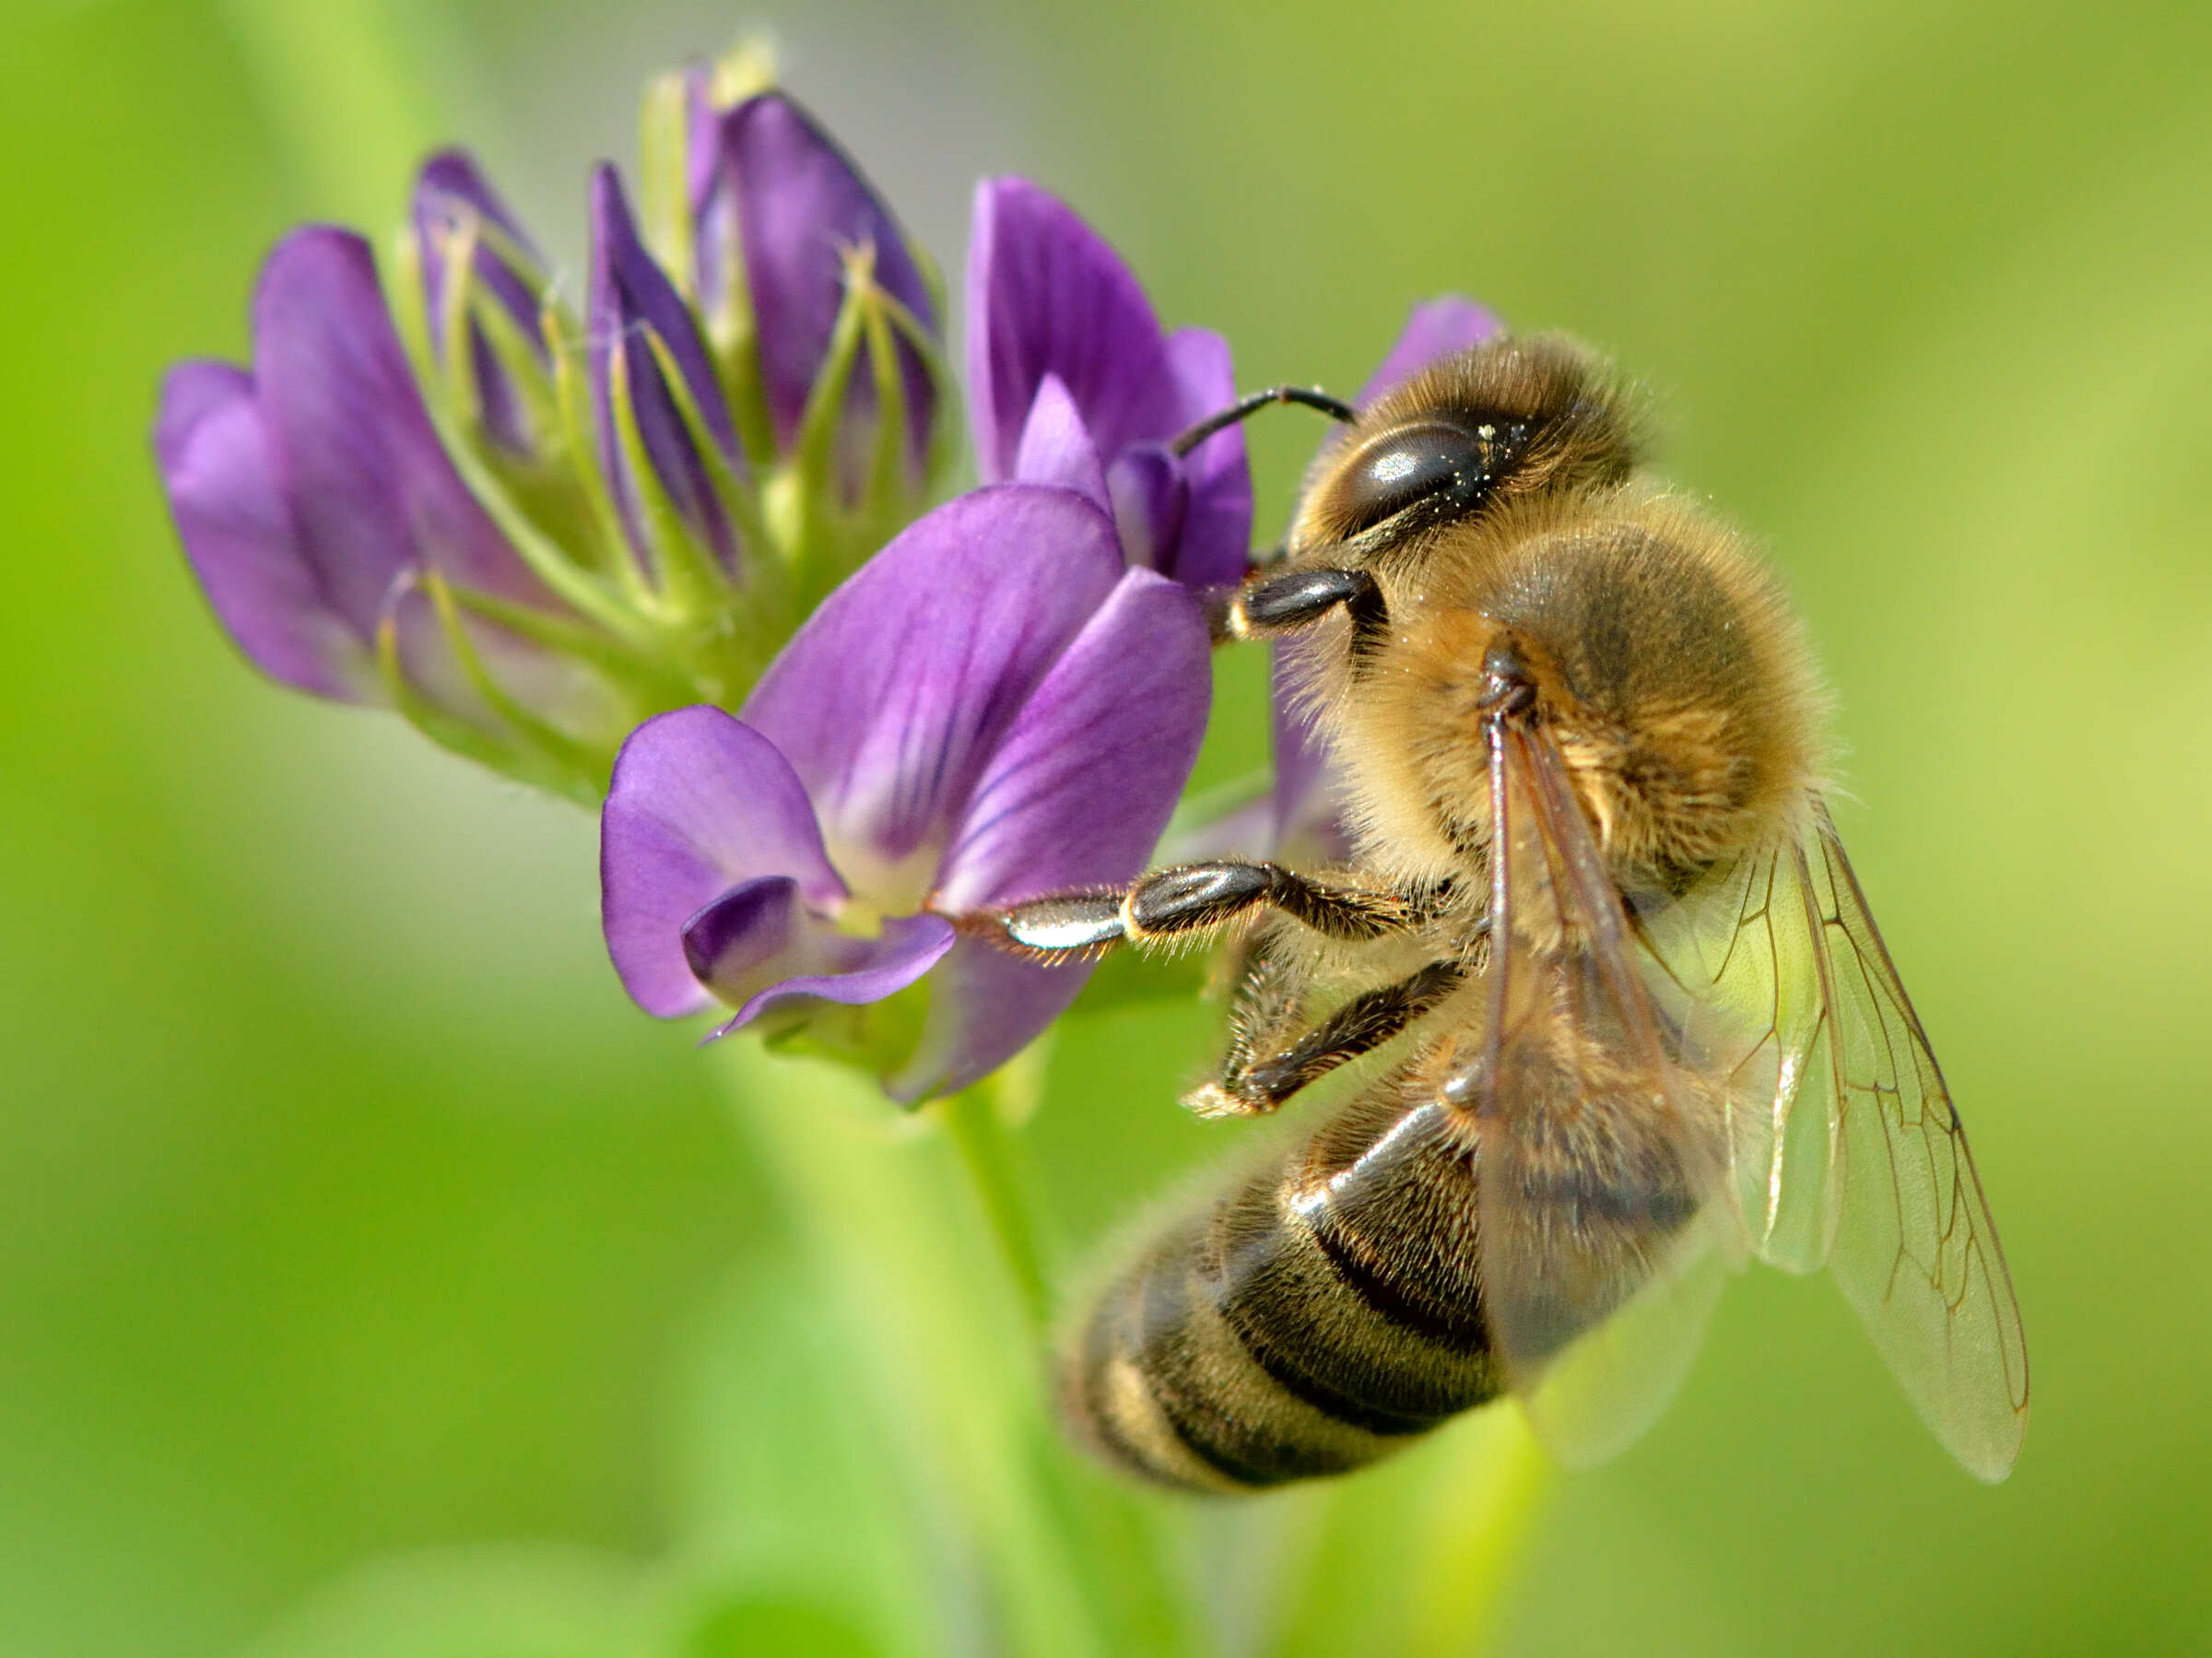
<svg viewBox="0 0 2212 1658">
<path fill-rule="evenodd" d="M 1827 1265 L 1929 1430 L 2004 1479 L 2028 1355 L 1966 1130 L 1865 893 L 1814 802 L 1801 840 L 1639 928 L 1686 1063 L 1714 1077 L 1745 1242 Z"/>
</svg>

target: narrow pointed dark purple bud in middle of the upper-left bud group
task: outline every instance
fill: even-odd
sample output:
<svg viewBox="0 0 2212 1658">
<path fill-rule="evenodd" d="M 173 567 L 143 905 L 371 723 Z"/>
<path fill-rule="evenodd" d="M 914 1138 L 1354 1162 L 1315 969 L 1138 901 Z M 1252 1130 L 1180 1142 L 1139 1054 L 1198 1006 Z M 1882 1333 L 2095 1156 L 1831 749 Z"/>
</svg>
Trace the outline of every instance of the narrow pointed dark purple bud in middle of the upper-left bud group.
<svg viewBox="0 0 2212 1658">
<path fill-rule="evenodd" d="M 644 511 L 639 506 L 637 480 L 630 478 L 628 460 L 615 429 L 613 376 L 622 374 L 637 416 L 637 433 L 646 449 L 646 460 L 677 513 L 712 546 L 723 562 L 737 568 L 737 531 L 721 508 L 721 500 L 708 475 L 706 460 L 697 453 L 677 400 L 661 378 L 659 360 L 650 340 L 657 338 L 684 376 L 684 387 L 708 433 L 721 447 L 732 469 L 741 469 L 737 453 L 737 431 L 730 427 L 730 411 L 721 400 L 721 387 L 699 338 L 699 325 L 690 307 L 668 281 L 646 245 L 637 239 L 637 223 L 630 203 L 622 195 L 622 179 L 615 168 L 599 166 L 591 175 L 591 296 L 588 309 L 588 356 L 593 405 L 599 418 L 599 453 L 606 462 L 615 504 L 630 528 L 641 555 L 650 553 L 644 533 Z"/>
</svg>

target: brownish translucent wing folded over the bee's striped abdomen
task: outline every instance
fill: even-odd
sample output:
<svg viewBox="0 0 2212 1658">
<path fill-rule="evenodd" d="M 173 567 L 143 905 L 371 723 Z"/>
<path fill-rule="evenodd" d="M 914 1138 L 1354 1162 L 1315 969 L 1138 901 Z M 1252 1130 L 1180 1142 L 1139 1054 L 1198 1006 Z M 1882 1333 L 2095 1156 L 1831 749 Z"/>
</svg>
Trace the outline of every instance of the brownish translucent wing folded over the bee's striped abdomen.
<svg viewBox="0 0 2212 1658">
<path fill-rule="evenodd" d="M 1475 1114 L 1491 1349 L 1571 1463 L 1672 1397 L 1734 1238 L 1719 1103 L 1679 1066 L 1551 736 L 1491 730 L 1491 1008 Z M 1714 1203 L 1721 1198 L 1721 1203 Z"/>
</svg>

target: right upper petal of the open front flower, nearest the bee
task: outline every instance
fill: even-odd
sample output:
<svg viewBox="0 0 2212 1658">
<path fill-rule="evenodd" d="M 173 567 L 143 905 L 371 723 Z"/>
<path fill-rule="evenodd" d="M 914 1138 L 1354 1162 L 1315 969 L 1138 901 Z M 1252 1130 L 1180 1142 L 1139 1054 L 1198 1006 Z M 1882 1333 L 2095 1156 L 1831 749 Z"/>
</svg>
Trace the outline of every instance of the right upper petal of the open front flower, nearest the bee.
<svg viewBox="0 0 2212 1658">
<path fill-rule="evenodd" d="M 1144 869 L 1199 754 L 1210 699 L 1197 599 L 1130 570 L 991 754 L 933 906 L 995 909 Z"/>
</svg>

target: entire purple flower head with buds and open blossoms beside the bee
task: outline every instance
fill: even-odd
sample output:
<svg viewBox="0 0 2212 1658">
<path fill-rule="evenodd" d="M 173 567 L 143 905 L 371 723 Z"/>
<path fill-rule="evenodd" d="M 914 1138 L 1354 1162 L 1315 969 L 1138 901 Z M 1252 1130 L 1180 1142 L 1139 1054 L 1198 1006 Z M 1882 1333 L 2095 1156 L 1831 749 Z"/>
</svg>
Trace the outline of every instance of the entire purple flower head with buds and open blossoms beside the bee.
<svg viewBox="0 0 2212 1658">
<path fill-rule="evenodd" d="M 933 270 L 739 55 L 646 99 L 633 208 L 591 179 L 575 316 L 462 153 L 420 170 L 389 307 L 369 245 L 268 259 L 254 363 L 179 365 L 155 451 L 208 599 L 270 676 L 604 800 L 608 953 L 648 1012 L 730 1010 L 967 1085 L 1075 997 L 964 915 L 1144 867 L 1206 727 L 1197 588 L 1243 579 L 1228 343 L 1161 329 L 1066 203 L 978 188 L 951 449 Z M 1367 396 L 1482 338 L 1420 307 Z M 880 548 L 880 550 L 878 550 Z M 1343 851 L 1276 696 L 1272 794 L 1208 840 Z"/>
</svg>

